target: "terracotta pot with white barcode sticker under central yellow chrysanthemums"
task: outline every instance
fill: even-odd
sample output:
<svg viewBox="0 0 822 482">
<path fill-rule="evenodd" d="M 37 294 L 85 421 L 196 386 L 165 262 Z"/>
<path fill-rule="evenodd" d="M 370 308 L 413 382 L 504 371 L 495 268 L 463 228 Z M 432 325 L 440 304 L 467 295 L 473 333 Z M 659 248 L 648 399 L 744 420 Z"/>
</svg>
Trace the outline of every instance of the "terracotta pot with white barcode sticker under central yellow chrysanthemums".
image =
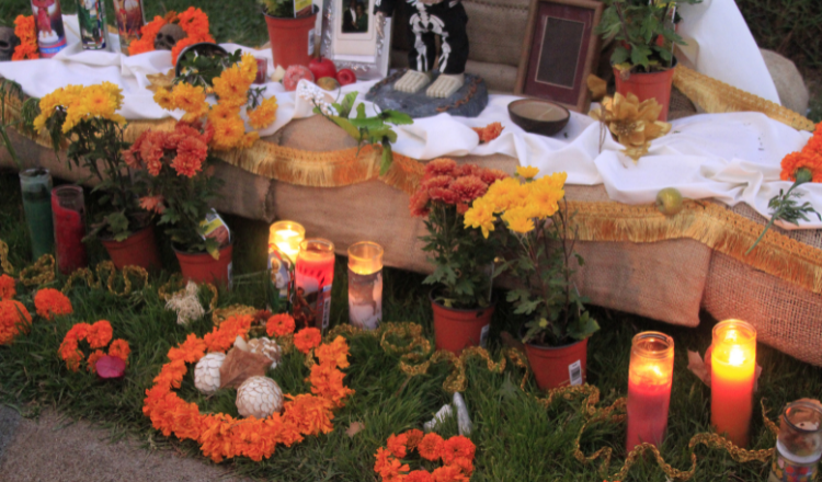
<svg viewBox="0 0 822 482">
<path fill-rule="evenodd" d="M 537 386 L 543 390 L 585 382 L 587 338 L 557 347 L 526 343 L 525 354 L 528 356 L 530 369 L 534 370 Z M 575 383 L 571 382 L 572 377 Z"/>
</svg>

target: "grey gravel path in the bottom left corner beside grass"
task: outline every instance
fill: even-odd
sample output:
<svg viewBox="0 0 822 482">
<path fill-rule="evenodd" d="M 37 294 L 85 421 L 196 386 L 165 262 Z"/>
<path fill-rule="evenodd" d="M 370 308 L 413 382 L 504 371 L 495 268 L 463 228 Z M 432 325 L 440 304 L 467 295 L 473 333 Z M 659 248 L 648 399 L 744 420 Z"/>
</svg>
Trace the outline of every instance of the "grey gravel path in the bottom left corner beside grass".
<svg viewBox="0 0 822 482">
<path fill-rule="evenodd" d="M 224 467 L 149 451 L 135 439 L 109 441 L 110 432 L 45 412 L 36 421 L 0 405 L 0 480 L 3 482 L 241 481 Z"/>
</svg>

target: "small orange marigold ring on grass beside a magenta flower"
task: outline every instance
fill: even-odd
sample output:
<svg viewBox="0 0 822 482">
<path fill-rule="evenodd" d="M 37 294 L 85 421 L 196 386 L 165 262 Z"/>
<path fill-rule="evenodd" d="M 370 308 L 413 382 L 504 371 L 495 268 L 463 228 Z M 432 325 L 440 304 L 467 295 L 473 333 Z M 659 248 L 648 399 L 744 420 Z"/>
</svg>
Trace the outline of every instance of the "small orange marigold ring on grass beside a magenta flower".
<svg viewBox="0 0 822 482">
<path fill-rule="evenodd" d="M 78 371 L 80 369 L 80 362 L 84 358 L 83 352 L 80 349 L 80 342 L 85 340 L 89 343 L 89 347 L 94 349 L 85 360 L 85 369 L 94 374 L 96 372 L 96 362 L 105 356 L 105 353 L 100 348 L 109 345 L 113 333 L 112 324 L 106 320 L 100 320 L 94 324 L 77 323 L 71 326 L 71 330 L 66 333 L 62 343 L 60 343 L 58 349 L 60 358 L 66 362 L 66 367 L 69 370 Z M 128 355 L 130 353 L 132 348 L 125 340 L 115 340 L 109 346 L 109 356 L 116 356 L 126 364 L 128 364 Z"/>
</svg>

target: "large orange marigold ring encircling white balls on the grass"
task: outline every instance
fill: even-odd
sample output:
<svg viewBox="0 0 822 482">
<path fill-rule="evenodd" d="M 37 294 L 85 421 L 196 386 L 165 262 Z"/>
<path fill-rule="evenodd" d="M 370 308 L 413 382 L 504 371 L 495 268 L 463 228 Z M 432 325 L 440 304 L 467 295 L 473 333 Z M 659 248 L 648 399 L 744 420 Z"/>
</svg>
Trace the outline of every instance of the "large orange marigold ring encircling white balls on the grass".
<svg viewBox="0 0 822 482">
<path fill-rule="evenodd" d="M 293 328 L 287 328 L 293 326 L 294 320 L 288 323 L 286 317 L 271 317 L 266 331 L 274 333 L 276 326 L 283 333 L 282 336 L 289 335 Z M 252 322 L 253 317 L 250 314 L 235 315 L 202 338 L 190 334 L 184 342 L 169 351 L 169 363 L 163 365 L 155 378 L 155 385 L 146 390 L 142 413 L 151 418 L 153 427 L 167 437 L 174 434 L 180 439 L 196 440 L 203 455 L 215 462 L 239 456 L 261 461 L 271 457 L 277 444 L 290 447 L 307 435 L 332 432 L 332 410 L 342 406 L 343 399 L 354 392 L 343 385 L 345 375 L 339 370 L 349 363 L 346 357 L 341 357 L 341 354 L 347 354 L 349 351 L 342 337 L 324 348 L 327 352 L 323 353 L 327 355 L 319 365 L 312 366 L 307 381 L 315 394 L 287 394 L 288 401 L 284 404 L 283 413 L 274 413 L 265 420 L 253 416 L 238 420 L 221 413 L 203 414 L 195 403 L 185 402 L 172 391 L 180 388 L 189 371 L 186 364 L 197 363 L 206 352 L 227 351 L 237 336 L 247 337 Z M 308 335 L 300 332 L 296 337 L 315 340 L 312 332 L 308 332 Z M 319 345 L 318 349 L 323 349 L 324 346 Z"/>
</svg>

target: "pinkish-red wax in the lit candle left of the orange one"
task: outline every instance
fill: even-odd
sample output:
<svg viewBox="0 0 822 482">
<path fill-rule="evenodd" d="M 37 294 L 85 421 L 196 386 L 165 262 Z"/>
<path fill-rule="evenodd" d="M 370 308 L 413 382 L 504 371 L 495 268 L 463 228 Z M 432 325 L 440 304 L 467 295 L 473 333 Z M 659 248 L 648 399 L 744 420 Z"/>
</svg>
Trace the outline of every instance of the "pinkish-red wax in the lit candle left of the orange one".
<svg viewBox="0 0 822 482">
<path fill-rule="evenodd" d="M 631 370 L 628 377 L 628 451 L 646 441 L 659 447 L 667 428 L 670 375 L 657 366 L 643 368 L 641 375 Z"/>
</svg>

